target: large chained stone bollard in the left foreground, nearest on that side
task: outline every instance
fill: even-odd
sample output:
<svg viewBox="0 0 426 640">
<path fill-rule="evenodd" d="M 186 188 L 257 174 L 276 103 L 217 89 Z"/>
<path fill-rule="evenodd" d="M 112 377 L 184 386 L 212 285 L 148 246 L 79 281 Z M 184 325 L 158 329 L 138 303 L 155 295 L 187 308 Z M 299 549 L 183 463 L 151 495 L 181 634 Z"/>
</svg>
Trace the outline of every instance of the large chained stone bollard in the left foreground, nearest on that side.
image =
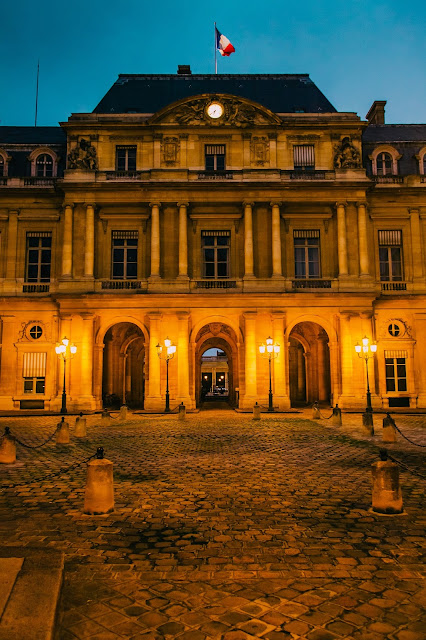
<svg viewBox="0 0 426 640">
<path fill-rule="evenodd" d="M 113 463 L 104 458 L 104 450 L 98 447 L 96 460 L 87 463 L 84 513 L 97 515 L 114 509 Z"/>
</svg>

